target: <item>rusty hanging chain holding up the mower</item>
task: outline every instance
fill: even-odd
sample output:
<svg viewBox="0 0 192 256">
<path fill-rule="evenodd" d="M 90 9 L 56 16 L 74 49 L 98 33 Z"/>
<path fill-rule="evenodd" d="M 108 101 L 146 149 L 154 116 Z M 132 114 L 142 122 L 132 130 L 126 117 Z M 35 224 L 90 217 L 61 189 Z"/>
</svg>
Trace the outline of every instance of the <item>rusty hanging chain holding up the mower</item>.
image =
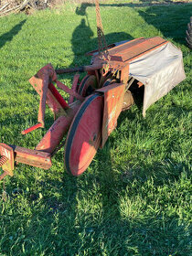
<svg viewBox="0 0 192 256">
<path fill-rule="evenodd" d="M 96 5 L 97 37 L 98 37 L 99 54 L 101 55 L 101 59 L 109 60 L 109 52 L 108 52 L 107 43 L 106 43 L 106 39 L 103 32 L 102 22 L 101 22 L 99 0 L 95 0 L 95 5 Z"/>
</svg>

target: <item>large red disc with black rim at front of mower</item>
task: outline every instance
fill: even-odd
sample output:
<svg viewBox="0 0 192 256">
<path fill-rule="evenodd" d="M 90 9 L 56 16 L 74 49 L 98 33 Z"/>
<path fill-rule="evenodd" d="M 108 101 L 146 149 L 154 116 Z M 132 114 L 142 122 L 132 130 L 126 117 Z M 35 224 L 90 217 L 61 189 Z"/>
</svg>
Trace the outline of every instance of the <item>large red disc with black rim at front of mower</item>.
<svg viewBox="0 0 192 256">
<path fill-rule="evenodd" d="M 91 164 L 101 145 L 103 97 L 93 94 L 76 113 L 65 144 L 65 165 L 69 174 L 79 176 Z"/>
</svg>

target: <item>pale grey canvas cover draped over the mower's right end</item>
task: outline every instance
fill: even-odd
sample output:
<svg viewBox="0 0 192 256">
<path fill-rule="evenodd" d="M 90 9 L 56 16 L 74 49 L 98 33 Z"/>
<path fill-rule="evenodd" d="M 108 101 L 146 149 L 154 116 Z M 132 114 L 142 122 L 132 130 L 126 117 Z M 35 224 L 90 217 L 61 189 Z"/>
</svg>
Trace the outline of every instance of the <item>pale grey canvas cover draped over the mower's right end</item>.
<svg viewBox="0 0 192 256">
<path fill-rule="evenodd" d="M 144 83 L 144 116 L 149 106 L 186 78 L 182 52 L 170 42 L 134 59 L 129 72 Z"/>
</svg>

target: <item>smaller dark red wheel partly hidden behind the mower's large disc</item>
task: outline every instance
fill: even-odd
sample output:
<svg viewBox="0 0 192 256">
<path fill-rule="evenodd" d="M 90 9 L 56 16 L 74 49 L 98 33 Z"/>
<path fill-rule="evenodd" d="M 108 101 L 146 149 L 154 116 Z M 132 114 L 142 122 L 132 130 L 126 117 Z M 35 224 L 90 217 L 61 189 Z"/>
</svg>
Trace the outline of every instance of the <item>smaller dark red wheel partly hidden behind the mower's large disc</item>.
<svg viewBox="0 0 192 256">
<path fill-rule="evenodd" d="M 81 82 L 78 93 L 83 96 L 89 96 L 97 88 L 97 78 L 94 75 L 85 76 Z"/>
</svg>

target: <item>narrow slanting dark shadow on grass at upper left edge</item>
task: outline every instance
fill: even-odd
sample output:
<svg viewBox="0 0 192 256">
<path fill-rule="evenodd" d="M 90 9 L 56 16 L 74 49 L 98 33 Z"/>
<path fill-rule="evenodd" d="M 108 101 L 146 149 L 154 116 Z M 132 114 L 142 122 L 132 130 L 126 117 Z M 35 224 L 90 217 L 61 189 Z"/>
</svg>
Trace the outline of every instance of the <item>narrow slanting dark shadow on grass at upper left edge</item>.
<svg viewBox="0 0 192 256">
<path fill-rule="evenodd" d="M 26 21 L 26 19 L 22 20 L 15 27 L 12 27 L 10 31 L 6 32 L 0 37 L 0 48 L 3 48 L 6 42 L 11 41 L 13 37 L 15 37 L 16 34 L 18 34 L 18 32 L 22 29 L 23 25 L 26 23 Z"/>
</svg>

